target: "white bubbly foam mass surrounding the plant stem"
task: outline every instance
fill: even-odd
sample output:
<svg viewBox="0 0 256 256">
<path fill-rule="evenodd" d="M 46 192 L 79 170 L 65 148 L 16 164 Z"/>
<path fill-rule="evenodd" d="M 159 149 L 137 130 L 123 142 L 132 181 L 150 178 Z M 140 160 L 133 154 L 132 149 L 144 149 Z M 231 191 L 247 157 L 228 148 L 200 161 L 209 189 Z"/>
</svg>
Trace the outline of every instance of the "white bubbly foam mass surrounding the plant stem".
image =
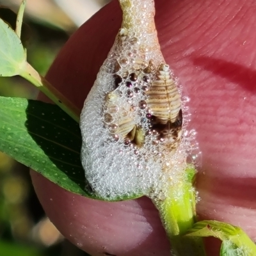
<svg viewBox="0 0 256 256">
<path fill-rule="evenodd" d="M 165 61 L 154 27 L 154 2 L 147 6 L 144 1 L 136 2 L 140 3 L 123 10 L 122 29 L 81 114 L 85 177 L 93 191 L 108 200 L 164 194 L 167 185 L 182 179 L 191 140 L 191 136 L 182 136 L 179 147 L 170 150 L 152 130 L 146 92 Z M 185 131 L 184 117 L 186 111 Z M 134 127 L 142 131 L 138 137 L 142 146 L 127 136 Z"/>
</svg>

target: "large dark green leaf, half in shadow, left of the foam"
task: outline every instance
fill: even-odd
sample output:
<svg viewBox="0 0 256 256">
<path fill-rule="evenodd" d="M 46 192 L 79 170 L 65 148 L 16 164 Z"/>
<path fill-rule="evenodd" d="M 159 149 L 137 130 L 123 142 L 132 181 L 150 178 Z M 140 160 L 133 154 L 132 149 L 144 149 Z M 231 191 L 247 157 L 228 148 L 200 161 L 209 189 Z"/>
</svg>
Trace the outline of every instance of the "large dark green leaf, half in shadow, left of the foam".
<svg viewBox="0 0 256 256">
<path fill-rule="evenodd" d="M 0 97 L 0 150 L 61 188 L 102 200 L 84 178 L 80 149 L 79 125 L 58 106 Z"/>
</svg>

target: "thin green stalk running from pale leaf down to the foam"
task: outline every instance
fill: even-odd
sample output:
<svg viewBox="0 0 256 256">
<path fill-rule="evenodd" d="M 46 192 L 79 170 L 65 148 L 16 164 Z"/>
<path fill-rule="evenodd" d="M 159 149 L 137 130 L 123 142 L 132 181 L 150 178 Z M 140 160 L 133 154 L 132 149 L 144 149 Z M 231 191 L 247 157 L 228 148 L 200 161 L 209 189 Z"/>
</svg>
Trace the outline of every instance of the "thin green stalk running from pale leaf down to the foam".
<svg viewBox="0 0 256 256">
<path fill-rule="evenodd" d="M 44 77 L 27 63 L 20 76 L 24 77 L 30 83 L 34 84 L 38 90 L 43 92 L 49 99 L 56 103 L 60 108 L 71 116 L 76 122 L 79 122 L 80 110 L 74 106 L 63 94 L 54 88 Z"/>
</svg>

